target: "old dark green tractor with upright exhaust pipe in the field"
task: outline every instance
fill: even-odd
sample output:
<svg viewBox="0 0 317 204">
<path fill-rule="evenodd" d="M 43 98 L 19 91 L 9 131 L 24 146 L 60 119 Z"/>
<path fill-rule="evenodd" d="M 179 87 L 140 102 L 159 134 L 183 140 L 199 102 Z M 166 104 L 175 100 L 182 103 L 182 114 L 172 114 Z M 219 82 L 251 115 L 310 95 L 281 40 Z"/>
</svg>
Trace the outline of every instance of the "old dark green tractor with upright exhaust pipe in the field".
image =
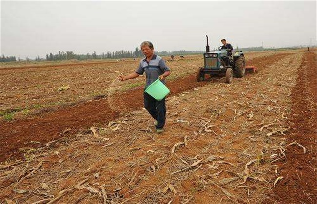
<svg viewBox="0 0 317 204">
<path fill-rule="evenodd" d="M 197 68 L 196 79 L 198 82 L 205 80 L 205 75 L 226 76 L 226 82 L 231 83 L 233 76 L 241 78 L 245 74 L 245 58 L 243 51 L 235 51 L 228 56 L 226 49 L 218 48 L 217 51 L 209 51 L 208 36 L 206 53 L 204 53 L 204 67 Z"/>
</svg>

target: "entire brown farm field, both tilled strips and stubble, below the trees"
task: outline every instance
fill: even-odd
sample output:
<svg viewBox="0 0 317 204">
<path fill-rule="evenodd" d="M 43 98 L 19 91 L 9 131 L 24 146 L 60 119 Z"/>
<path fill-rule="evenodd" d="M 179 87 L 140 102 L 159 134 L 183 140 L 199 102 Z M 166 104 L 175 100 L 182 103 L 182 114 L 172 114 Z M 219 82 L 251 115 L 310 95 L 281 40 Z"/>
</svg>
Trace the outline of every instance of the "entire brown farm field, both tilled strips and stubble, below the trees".
<svg viewBox="0 0 317 204">
<path fill-rule="evenodd" d="M 1 67 L 0 204 L 314 204 L 316 50 L 246 59 L 232 84 L 167 62 L 163 134 L 144 77 L 117 80 L 139 60 Z"/>
</svg>

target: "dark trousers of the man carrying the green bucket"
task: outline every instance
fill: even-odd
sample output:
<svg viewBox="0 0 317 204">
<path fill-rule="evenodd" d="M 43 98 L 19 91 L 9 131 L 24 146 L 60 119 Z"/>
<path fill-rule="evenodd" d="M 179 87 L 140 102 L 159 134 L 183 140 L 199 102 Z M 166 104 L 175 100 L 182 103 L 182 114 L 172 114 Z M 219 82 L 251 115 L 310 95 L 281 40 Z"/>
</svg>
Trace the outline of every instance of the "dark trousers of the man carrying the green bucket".
<svg viewBox="0 0 317 204">
<path fill-rule="evenodd" d="M 151 116 L 158 121 L 157 129 L 162 129 L 166 120 L 165 98 L 161 101 L 154 99 L 148 93 L 144 92 L 144 107 Z"/>
</svg>

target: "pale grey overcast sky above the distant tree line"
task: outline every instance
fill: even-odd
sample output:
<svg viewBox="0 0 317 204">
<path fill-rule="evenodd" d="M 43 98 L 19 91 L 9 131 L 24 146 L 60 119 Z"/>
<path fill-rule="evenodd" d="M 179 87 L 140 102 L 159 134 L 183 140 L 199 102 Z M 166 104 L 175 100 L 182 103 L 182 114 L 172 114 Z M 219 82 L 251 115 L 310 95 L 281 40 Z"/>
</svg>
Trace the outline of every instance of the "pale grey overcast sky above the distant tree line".
<svg viewBox="0 0 317 204">
<path fill-rule="evenodd" d="M 316 1 L 5 1 L 1 55 L 316 44 Z"/>
</svg>

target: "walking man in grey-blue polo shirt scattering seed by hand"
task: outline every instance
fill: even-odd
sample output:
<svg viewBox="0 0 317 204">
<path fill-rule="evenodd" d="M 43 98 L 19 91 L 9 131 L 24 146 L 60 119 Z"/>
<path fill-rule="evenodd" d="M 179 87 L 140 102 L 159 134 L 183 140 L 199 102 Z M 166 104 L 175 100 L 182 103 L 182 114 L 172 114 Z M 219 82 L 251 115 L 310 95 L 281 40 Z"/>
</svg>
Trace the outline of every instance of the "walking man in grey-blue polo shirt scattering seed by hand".
<svg viewBox="0 0 317 204">
<path fill-rule="evenodd" d="M 144 41 L 141 43 L 142 53 L 145 55 L 140 61 L 139 68 L 134 72 L 126 76 L 119 76 L 121 81 L 128 79 L 134 79 L 140 74 L 145 72 L 146 76 L 146 89 L 152 82 L 158 78 L 163 84 L 166 85 L 165 77 L 171 74 L 170 68 L 165 65 L 164 60 L 154 54 L 154 47 L 150 41 Z M 157 133 L 162 133 L 164 131 L 163 127 L 166 120 L 166 106 L 165 98 L 161 101 L 157 101 L 148 93 L 143 92 L 144 95 L 144 107 L 151 114 L 151 116 L 156 120 L 155 127 Z"/>
</svg>

